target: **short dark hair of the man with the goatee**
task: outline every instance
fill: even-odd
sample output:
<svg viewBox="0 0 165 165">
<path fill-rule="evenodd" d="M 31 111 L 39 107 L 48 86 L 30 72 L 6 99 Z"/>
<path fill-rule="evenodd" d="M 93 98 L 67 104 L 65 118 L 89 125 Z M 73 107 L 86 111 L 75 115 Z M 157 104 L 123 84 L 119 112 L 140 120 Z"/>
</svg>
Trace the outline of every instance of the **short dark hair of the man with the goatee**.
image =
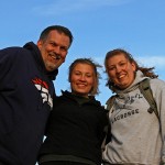
<svg viewBox="0 0 165 165">
<path fill-rule="evenodd" d="M 69 40 L 70 40 L 70 45 L 72 45 L 74 36 L 73 36 L 72 32 L 67 28 L 62 26 L 62 25 L 51 25 L 51 26 L 47 26 L 41 33 L 40 40 L 45 41 L 47 38 L 50 32 L 54 31 L 54 30 L 57 31 L 58 33 L 64 33 L 65 35 L 67 35 L 69 37 Z"/>
</svg>

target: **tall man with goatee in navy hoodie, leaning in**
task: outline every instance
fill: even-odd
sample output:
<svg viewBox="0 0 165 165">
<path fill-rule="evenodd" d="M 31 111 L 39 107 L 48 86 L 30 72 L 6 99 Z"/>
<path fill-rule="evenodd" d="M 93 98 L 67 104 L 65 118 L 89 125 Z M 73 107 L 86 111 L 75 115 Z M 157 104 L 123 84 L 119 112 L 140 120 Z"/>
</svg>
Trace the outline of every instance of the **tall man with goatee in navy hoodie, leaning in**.
<svg viewBox="0 0 165 165">
<path fill-rule="evenodd" d="M 35 45 L 0 51 L 0 165 L 35 165 L 53 108 L 53 81 L 73 42 L 61 25 L 46 28 Z"/>
</svg>

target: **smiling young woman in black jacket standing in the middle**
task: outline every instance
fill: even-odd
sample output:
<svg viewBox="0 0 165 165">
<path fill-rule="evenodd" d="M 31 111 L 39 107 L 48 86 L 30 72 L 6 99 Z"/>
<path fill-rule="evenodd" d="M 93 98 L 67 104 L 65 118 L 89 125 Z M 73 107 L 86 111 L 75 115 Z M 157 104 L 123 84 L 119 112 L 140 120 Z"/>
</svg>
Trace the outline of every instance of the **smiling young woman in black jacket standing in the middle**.
<svg viewBox="0 0 165 165">
<path fill-rule="evenodd" d="M 78 58 L 69 67 L 72 91 L 54 100 L 40 165 L 100 165 L 107 111 L 95 99 L 99 65 Z"/>
</svg>

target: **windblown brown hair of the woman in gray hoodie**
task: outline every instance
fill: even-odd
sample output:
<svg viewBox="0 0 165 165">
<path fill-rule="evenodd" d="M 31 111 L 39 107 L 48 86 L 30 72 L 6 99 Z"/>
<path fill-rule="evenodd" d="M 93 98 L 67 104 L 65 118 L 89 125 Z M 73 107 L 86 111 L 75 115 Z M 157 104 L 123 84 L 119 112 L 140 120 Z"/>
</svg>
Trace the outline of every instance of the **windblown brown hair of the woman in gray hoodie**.
<svg viewBox="0 0 165 165">
<path fill-rule="evenodd" d="M 106 58 L 105 58 L 106 73 L 108 70 L 108 59 L 110 57 L 113 57 L 113 56 L 119 55 L 119 54 L 123 54 L 130 63 L 134 63 L 135 68 L 136 68 L 135 70 L 141 70 L 144 74 L 144 76 L 150 77 L 150 78 L 157 78 L 158 77 L 158 75 L 155 75 L 153 72 L 154 67 L 139 66 L 138 62 L 132 57 L 132 55 L 122 48 L 112 50 L 106 54 Z M 109 87 L 113 86 L 113 82 L 110 80 L 110 78 L 108 79 L 107 86 L 109 86 Z"/>
</svg>

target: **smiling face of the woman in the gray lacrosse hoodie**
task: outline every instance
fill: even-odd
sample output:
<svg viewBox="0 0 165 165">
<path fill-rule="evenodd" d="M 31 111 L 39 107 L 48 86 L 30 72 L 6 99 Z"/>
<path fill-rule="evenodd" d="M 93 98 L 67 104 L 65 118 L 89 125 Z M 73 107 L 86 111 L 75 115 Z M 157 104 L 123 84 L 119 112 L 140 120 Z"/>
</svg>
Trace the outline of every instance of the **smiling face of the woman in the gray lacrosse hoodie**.
<svg viewBox="0 0 165 165">
<path fill-rule="evenodd" d="M 107 73 L 111 81 L 120 89 L 125 89 L 133 82 L 135 64 L 130 63 L 124 54 L 110 57 L 107 64 Z"/>
</svg>

